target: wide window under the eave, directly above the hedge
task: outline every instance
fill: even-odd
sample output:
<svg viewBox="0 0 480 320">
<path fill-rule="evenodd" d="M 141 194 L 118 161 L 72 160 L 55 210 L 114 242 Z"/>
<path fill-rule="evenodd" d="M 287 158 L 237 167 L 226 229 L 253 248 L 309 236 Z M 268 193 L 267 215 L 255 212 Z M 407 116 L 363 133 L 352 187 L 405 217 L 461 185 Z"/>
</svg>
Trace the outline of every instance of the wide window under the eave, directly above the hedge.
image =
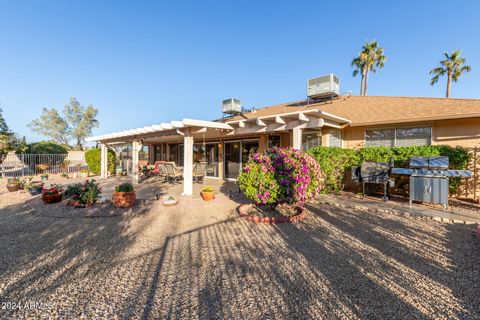
<svg viewBox="0 0 480 320">
<path fill-rule="evenodd" d="M 367 147 L 429 146 L 431 138 L 432 130 L 430 127 L 370 129 L 365 131 L 365 145 Z"/>
</svg>

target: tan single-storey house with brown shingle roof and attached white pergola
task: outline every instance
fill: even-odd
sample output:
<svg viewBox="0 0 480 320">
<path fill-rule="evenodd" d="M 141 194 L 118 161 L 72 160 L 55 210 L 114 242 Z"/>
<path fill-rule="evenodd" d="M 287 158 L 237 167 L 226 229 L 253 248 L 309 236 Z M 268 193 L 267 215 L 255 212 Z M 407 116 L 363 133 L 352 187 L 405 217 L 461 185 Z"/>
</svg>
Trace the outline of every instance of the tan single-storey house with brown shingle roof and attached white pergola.
<svg viewBox="0 0 480 320">
<path fill-rule="evenodd" d="M 480 145 L 480 100 L 421 97 L 339 96 L 269 106 L 216 121 L 183 119 L 92 137 L 124 154 L 123 166 L 138 176 L 139 161 L 174 161 L 184 167 L 184 194 L 191 194 L 195 161 L 206 175 L 235 179 L 242 164 L 272 146 L 307 150 L 315 146 Z M 126 161 L 126 162 L 125 162 Z M 474 168 L 475 170 L 477 168 Z"/>
</svg>

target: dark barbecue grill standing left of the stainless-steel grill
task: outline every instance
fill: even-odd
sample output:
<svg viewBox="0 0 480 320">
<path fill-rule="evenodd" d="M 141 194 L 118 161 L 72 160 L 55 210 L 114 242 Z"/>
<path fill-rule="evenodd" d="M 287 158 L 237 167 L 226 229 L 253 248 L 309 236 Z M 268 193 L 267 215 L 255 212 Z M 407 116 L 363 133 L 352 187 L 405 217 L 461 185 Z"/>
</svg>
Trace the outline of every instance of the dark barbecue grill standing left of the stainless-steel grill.
<svg viewBox="0 0 480 320">
<path fill-rule="evenodd" d="M 383 185 L 383 201 L 389 198 L 388 187 L 393 187 L 394 181 L 389 178 L 391 162 L 363 162 L 359 167 L 352 167 L 352 180 L 362 183 L 362 194 L 365 195 L 367 183 Z"/>
</svg>

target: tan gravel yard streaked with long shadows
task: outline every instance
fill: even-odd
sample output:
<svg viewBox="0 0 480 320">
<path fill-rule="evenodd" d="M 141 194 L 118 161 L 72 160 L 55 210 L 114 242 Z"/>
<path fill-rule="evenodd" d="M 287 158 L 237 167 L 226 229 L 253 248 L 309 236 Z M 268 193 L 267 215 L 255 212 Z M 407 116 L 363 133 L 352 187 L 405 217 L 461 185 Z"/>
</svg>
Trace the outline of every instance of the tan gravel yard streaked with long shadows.
<svg viewBox="0 0 480 320">
<path fill-rule="evenodd" d="M 0 317 L 480 319 L 473 226 L 328 206 L 271 226 L 218 198 L 96 219 L 3 207 Z"/>
</svg>

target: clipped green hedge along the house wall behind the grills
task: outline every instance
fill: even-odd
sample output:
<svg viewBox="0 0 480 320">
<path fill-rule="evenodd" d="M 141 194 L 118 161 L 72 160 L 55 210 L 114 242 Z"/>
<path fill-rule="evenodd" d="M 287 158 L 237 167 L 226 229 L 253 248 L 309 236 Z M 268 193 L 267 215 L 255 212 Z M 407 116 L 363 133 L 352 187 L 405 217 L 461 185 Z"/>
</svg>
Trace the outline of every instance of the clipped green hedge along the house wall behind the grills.
<svg viewBox="0 0 480 320">
<path fill-rule="evenodd" d="M 336 192 L 343 189 L 345 172 L 352 166 L 358 166 L 363 161 L 388 162 L 391 157 L 396 167 L 408 167 L 408 161 L 413 156 L 448 156 L 450 168 L 467 169 L 470 154 L 466 148 L 444 145 L 424 147 L 365 147 L 362 149 L 342 149 L 336 147 L 316 147 L 308 153 L 319 162 L 324 174 L 326 192 Z M 459 178 L 450 179 L 450 190 L 455 192 Z M 404 186 L 397 186 L 397 188 Z"/>
</svg>

